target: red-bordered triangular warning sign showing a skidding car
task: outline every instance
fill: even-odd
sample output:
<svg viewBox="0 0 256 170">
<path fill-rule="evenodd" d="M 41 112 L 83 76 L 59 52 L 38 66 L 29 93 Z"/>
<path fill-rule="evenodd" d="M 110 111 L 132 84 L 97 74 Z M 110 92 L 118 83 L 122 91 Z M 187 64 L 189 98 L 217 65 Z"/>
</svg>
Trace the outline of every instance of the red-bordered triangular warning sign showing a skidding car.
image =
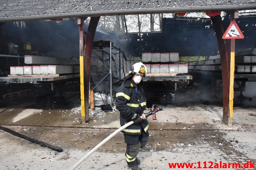
<svg viewBox="0 0 256 170">
<path fill-rule="evenodd" d="M 242 39 L 244 35 L 242 31 L 239 29 L 235 20 L 232 20 L 228 29 L 223 34 L 222 39 Z"/>
</svg>

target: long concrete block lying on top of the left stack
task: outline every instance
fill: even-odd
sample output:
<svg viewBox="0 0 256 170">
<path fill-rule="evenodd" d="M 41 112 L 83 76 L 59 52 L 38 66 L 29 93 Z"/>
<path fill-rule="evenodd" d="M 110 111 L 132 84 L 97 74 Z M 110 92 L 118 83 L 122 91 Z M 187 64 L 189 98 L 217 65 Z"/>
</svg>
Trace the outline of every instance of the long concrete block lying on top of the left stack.
<svg viewBox="0 0 256 170">
<path fill-rule="evenodd" d="M 25 56 L 25 64 L 79 64 L 77 59 L 65 59 L 43 56 Z"/>
</svg>

